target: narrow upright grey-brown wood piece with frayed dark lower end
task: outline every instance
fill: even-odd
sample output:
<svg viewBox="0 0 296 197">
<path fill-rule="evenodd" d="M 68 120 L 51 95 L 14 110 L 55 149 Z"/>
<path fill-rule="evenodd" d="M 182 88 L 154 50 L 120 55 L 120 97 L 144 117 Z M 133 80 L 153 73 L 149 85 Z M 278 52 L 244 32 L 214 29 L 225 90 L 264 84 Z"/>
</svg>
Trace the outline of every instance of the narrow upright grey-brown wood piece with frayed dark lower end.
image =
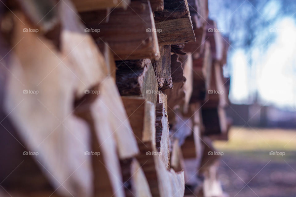
<svg viewBox="0 0 296 197">
<path fill-rule="evenodd" d="M 159 60 L 152 61 L 158 87 L 162 90 L 173 87 L 171 77 L 171 46 L 164 45 L 159 47 Z"/>
</svg>

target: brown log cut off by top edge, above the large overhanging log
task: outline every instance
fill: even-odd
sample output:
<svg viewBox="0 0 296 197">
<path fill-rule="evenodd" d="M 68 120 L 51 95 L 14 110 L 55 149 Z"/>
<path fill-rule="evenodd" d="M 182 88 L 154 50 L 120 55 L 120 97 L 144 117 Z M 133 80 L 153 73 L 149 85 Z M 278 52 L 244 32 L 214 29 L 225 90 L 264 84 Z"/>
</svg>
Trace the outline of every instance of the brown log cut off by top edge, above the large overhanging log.
<svg viewBox="0 0 296 197">
<path fill-rule="evenodd" d="M 127 6 L 130 4 L 130 0 L 72 0 L 72 2 L 79 12 L 121 7 L 126 9 Z"/>
</svg>

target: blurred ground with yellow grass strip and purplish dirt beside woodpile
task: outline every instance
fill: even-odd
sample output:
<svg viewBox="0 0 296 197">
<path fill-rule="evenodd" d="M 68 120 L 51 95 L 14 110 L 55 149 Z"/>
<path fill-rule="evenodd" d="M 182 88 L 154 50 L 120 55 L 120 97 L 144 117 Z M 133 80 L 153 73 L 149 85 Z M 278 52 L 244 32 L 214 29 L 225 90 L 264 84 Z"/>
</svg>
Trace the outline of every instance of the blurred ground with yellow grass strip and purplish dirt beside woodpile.
<svg viewBox="0 0 296 197">
<path fill-rule="evenodd" d="M 296 131 L 233 127 L 229 136 L 215 147 L 224 153 L 219 179 L 230 197 L 296 196 Z"/>
</svg>

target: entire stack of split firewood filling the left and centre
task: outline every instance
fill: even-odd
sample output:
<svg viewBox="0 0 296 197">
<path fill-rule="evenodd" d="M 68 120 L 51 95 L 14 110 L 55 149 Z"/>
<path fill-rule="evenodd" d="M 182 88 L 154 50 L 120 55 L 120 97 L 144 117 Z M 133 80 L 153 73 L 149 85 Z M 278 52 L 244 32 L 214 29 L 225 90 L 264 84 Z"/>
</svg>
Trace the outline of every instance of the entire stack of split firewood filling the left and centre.
<svg viewBox="0 0 296 197">
<path fill-rule="evenodd" d="M 207 0 L 1 8 L 1 196 L 223 192 L 228 41 Z"/>
</svg>

